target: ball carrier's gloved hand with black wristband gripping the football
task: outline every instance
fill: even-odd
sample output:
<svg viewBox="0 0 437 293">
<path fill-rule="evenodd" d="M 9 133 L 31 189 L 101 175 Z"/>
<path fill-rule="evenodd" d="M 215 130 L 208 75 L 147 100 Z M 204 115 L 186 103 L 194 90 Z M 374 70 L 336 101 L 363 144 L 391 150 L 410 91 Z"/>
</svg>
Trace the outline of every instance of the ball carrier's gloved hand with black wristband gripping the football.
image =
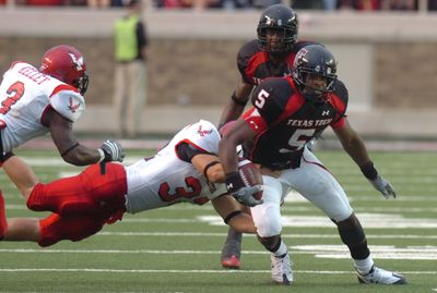
<svg viewBox="0 0 437 293">
<path fill-rule="evenodd" d="M 226 190 L 241 205 L 255 207 L 263 203 L 253 197 L 253 194 L 262 191 L 262 186 L 246 186 L 238 172 L 226 174 Z"/>
</svg>

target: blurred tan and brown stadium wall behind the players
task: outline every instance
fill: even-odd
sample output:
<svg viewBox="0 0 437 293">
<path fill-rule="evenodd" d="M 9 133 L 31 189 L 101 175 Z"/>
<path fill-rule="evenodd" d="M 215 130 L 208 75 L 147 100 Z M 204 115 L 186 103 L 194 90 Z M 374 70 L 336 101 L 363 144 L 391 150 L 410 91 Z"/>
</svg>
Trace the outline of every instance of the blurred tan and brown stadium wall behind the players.
<svg viewBox="0 0 437 293">
<path fill-rule="evenodd" d="M 149 11 L 144 133 L 172 133 L 200 118 L 217 122 L 236 85 L 236 52 L 256 37 L 260 11 Z M 54 45 L 78 47 L 91 86 L 80 132 L 111 132 L 113 23 L 120 10 L 0 9 L 0 70 L 39 63 Z M 326 44 L 350 88 L 351 122 L 367 135 L 435 137 L 437 15 L 298 11 L 300 39 Z"/>
</svg>

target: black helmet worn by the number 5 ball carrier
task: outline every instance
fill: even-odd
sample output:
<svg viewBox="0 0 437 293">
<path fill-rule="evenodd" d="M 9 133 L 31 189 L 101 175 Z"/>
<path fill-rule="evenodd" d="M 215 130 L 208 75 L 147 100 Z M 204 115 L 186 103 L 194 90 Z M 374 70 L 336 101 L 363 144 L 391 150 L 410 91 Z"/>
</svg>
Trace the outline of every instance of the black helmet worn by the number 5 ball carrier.
<svg viewBox="0 0 437 293">
<path fill-rule="evenodd" d="M 321 86 L 310 85 L 309 76 L 322 77 L 324 83 Z M 327 93 L 334 90 L 336 61 L 324 46 L 308 45 L 296 53 L 292 77 L 307 100 L 320 100 Z"/>
</svg>

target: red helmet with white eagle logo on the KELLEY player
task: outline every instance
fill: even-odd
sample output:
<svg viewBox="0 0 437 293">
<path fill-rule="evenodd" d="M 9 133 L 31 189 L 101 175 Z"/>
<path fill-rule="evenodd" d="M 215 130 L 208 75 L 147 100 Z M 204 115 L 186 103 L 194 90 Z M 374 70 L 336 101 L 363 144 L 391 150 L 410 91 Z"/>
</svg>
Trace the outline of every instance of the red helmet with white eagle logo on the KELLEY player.
<svg viewBox="0 0 437 293">
<path fill-rule="evenodd" d="M 47 50 L 39 71 L 74 86 L 82 95 L 88 87 L 84 58 L 74 47 L 60 45 Z"/>
</svg>

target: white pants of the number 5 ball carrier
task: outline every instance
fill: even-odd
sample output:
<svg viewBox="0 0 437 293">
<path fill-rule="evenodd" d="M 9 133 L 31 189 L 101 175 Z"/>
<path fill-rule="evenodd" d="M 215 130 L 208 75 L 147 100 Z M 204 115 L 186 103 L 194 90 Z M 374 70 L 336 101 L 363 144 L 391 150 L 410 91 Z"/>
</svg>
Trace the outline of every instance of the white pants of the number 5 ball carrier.
<svg viewBox="0 0 437 293">
<path fill-rule="evenodd" d="M 353 212 L 340 183 L 307 148 L 299 168 L 283 170 L 277 179 L 267 175 L 262 179 L 264 203 L 251 208 L 253 222 L 261 237 L 281 234 L 280 206 L 292 188 L 335 221 L 345 220 Z"/>
</svg>

